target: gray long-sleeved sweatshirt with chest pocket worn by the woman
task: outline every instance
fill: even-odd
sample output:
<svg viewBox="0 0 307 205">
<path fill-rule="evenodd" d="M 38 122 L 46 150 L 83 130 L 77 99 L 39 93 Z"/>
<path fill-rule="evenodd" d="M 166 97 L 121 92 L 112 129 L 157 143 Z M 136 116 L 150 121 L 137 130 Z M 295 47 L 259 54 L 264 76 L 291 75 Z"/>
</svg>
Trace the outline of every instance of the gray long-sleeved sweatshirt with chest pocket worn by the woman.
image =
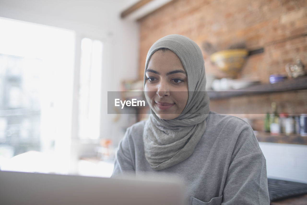
<svg viewBox="0 0 307 205">
<path fill-rule="evenodd" d="M 155 171 L 146 161 L 145 121 L 129 127 L 115 157 L 112 176 L 159 172 L 184 179 L 188 204 L 270 204 L 266 159 L 252 128 L 242 119 L 210 112 L 207 128 L 192 155 Z"/>
</svg>

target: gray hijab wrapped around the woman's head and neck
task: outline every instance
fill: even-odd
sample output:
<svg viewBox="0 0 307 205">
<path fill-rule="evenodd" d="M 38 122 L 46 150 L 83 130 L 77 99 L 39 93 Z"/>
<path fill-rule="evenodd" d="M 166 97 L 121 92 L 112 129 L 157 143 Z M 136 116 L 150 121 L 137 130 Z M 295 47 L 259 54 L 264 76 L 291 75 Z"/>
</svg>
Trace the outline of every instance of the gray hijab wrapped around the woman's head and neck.
<svg viewBox="0 0 307 205">
<path fill-rule="evenodd" d="M 161 48 L 173 51 L 181 60 L 187 73 L 188 101 L 175 119 L 160 119 L 150 108 L 145 123 L 143 140 L 147 162 L 154 170 L 171 167 L 187 159 L 206 129 L 209 97 L 205 92 L 204 58 L 199 46 L 182 35 L 168 35 L 155 42 L 148 51 L 144 72 L 151 55 Z"/>
</svg>

